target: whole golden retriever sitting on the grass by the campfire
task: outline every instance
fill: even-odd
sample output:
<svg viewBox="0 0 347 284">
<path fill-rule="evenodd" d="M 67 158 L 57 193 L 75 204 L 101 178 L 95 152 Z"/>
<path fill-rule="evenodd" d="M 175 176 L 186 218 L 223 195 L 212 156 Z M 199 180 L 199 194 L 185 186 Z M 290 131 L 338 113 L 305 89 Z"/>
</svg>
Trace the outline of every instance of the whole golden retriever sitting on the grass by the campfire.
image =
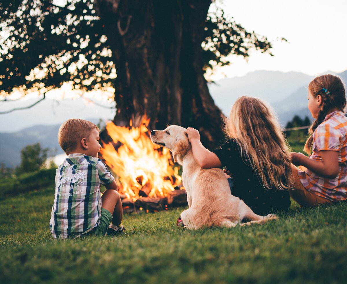
<svg viewBox="0 0 347 284">
<path fill-rule="evenodd" d="M 151 140 L 168 148 L 174 161 L 183 166 L 182 180 L 189 208 L 181 213 L 181 220 L 187 228 L 234 227 L 246 218 L 252 221 L 240 225 L 263 224 L 276 219 L 272 214 L 255 214 L 240 198 L 231 195 L 228 180 L 221 169 L 202 169 L 194 160 L 185 128 L 170 125 L 161 131 L 152 130 Z"/>
</svg>

